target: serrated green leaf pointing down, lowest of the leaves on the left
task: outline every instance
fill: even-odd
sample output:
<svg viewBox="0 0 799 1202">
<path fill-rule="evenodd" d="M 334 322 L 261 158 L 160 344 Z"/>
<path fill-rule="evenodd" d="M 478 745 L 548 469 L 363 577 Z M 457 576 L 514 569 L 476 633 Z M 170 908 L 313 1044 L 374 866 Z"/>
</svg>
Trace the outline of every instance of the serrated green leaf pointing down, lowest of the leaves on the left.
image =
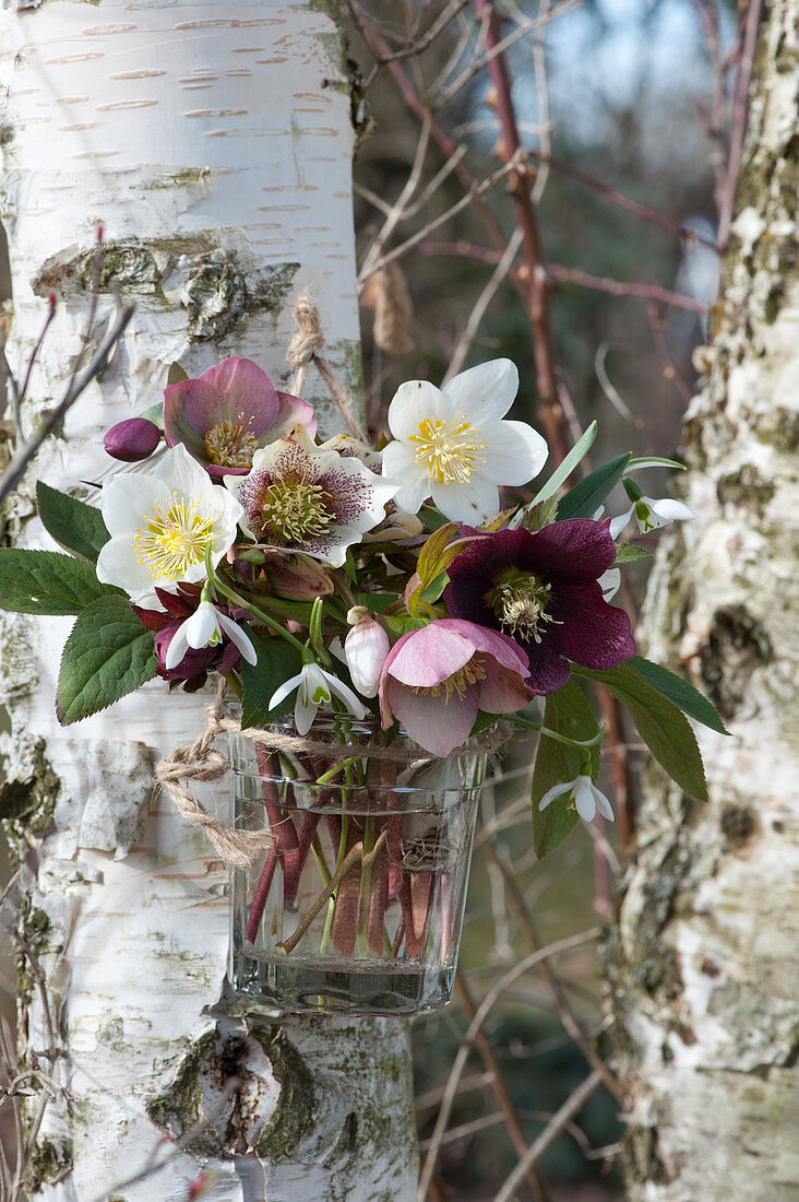
<svg viewBox="0 0 799 1202">
<path fill-rule="evenodd" d="M 105 596 L 78 614 L 61 656 L 55 713 L 62 726 L 89 718 L 151 680 L 155 636 L 124 596 Z"/>
</svg>

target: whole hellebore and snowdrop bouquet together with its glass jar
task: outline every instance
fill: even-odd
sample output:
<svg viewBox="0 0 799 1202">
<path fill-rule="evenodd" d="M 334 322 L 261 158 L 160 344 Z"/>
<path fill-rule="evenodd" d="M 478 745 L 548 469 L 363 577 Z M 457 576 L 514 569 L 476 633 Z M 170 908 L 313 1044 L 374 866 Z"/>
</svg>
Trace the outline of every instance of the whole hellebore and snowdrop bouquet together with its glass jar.
<svg viewBox="0 0 799 1202">
<path fill-rule="evenodd" d="M 156 676 L 195 691 L 216 672 L 238 698 L 255 739 L 246 763 L 232 754 L 254 781 L 246 833 L 181 813 L 232 864 L 257 861 L 234 880 L 239 993 L 304 1008 L 310 990 L 314 1006 L 380 1013 L 448 1000 L 484 752 L 513 725 L 539 732 L 539 857 L 579 819 L 613 819 L 596 784 L 604 730 L 578 680 L 622 702 L 667 773 L 706 797 L 685 715 L 723 731 L 718 715 L 637 654 L 612 603 L 625 564 L 646 554 L 616 545 L 631 519 L 646 531 L 693 516 L 632 480 L 670 462 L 620 454 L 566 489 L 592 426 L 535 496 L 503 508 L 500 488 L 527 484 L 548 457 L 506 418 L 518 382 L 508 359 L 441 389 L 409 381 L 376 448 L 344 433 L 320 444 L 312 406 L 249 359 L 198 379 L 175 364 L 162 405 L 108 430 L 106 450 L 137 466 L 105 481 L 99 506 L 40 482 L 41 520 L 68 554 L 0 551 L 0 606 L 77 615 L 62 724 Z M 619 482 L 630 508 L 603 517 Z M 294 972 L 309 948 L 380 971 L 359 970 L 353 1002 L 326 964 Z"/>
</svg>

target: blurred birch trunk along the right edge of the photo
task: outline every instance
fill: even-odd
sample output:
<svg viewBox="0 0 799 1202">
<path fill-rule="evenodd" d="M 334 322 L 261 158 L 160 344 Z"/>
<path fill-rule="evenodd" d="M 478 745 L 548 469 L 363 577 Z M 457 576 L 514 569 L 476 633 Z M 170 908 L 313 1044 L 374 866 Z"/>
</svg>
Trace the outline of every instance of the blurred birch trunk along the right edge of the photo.
<svg viewBox="0 0 799 1202">
<path fill-rule="evenodd" d="M 709 374 L 698 520 L 663 540 L 646 654 L 693 674 L 710 804 L 651 779 L 612 947 L 631 1202 L 799 1198 L 799 4 L 761 30 Z"/>
</svg>

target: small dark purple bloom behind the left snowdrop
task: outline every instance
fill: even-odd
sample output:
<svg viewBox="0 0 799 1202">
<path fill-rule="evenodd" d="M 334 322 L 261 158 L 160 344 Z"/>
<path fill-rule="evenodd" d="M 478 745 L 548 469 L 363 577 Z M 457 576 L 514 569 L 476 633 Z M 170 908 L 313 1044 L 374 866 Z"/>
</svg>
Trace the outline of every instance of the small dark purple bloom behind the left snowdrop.
<svg viewBox="0 0 799 1202">
<path fill-rule="evenodd" d="M 166 655 L 172 638 L 190 618 L 199 605 L 201 589 L 192 584 L 179 584 L 177 593 L 166 593 L 156 589 L 156 596 L 165 607 L 166 613 L 157 609 L 144 609 L 142 606 L 133 606 L 133 611 L 142 625 L 155 631 L 155 657 L 159 661 L 159 676 L 169 682 L 169 688 L 184 682 L 185 692 L 196 692 L 205 684 L 209 672 L 231 672 L 239 666 L 240 654 L 237 647 L 222 635 L 222 642 L 216 647 L 202 647 L 199 650 L 190 650 L 174 668 L 165 667 Z M 231 606 L 217 605 L 220 613 L 240 621 L 249 618 L 245 609 L 237 609 Z"/>
</svg>

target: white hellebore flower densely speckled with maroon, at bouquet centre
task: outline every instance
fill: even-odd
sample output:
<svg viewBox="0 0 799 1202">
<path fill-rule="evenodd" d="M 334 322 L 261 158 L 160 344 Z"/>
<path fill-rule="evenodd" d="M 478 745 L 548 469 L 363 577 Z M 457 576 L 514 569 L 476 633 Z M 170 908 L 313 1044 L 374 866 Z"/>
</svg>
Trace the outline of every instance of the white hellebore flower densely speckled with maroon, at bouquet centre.
<svg viewBox="0 0 799 1202">
<path fill-rule="evenodd" d="M 260 546 L 303 552 L 333 567 L 382 522 L 399 487 L 354 457 L 316 447 L 302 426 L 256 451 L 249 475 L 225 483 L 244 508 L 243 529 Z"/>
</svg>

